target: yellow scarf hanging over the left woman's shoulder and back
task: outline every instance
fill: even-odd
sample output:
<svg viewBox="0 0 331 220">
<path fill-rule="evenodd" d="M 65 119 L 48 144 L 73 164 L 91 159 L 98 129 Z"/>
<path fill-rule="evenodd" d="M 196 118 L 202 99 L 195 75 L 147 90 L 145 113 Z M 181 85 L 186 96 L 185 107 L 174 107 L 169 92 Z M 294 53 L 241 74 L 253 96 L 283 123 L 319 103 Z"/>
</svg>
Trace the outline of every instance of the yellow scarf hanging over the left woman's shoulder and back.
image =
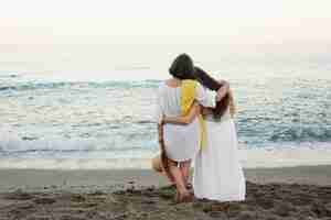
<svg viewBox="0 0 331 220">
<path fill-rule="evenodd" d="M 196 81 L 192 79 L 182 80 L 182 96 L 181 96 L 181 113 L 186 116 L 190 112 L 190 109 L 195 100 L 195 87 Z M 206 145 L 206 125 L 203 117 L 199 114 L 200 123 L 200 147 L 203 148 Z"/>
</svg>

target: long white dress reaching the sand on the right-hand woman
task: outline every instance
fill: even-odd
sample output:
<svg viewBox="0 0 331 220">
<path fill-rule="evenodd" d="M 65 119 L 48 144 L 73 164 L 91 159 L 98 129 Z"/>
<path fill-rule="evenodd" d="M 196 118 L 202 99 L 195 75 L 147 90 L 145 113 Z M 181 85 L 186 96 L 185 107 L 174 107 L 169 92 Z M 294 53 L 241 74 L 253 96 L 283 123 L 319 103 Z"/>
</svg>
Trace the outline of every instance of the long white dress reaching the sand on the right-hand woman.
<svg viewBox="0 0 331 220">
<path fill-rule="evenodd" d="M 238 160 L 237 134 L 227 110 L 220 122 L 206 118 L 206 146 L 195 158 L 193 188 L 197 198 L 218 201 L 245 199 L 246 185 Z"/>
</svg>

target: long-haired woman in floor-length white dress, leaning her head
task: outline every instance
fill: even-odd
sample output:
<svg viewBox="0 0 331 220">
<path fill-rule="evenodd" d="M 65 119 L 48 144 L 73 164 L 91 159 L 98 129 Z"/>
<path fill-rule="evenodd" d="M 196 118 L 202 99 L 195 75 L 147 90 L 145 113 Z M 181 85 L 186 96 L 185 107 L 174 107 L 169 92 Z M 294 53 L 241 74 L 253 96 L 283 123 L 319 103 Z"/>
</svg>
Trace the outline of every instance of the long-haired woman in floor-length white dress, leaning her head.
<svg viewBox="0 0 331 220">
<path fill-rule="evenodd" d="M 197 80 L 211 90 L 222 84 L 200 68 Z M 245 199 L 246 185 L 243 168 L 238 160 L 237 134 L 233 120 L 234 106 L 232 92 L 216 103 L 215 108 L 191 108 L 186 117 L 164 117 L 166 123 L 191 123 L 202 111 L 206 121 L 206 147 L 195 158 L 193 188 L 197 198 L 218 201 L 239 201 Z"/>
</svg>

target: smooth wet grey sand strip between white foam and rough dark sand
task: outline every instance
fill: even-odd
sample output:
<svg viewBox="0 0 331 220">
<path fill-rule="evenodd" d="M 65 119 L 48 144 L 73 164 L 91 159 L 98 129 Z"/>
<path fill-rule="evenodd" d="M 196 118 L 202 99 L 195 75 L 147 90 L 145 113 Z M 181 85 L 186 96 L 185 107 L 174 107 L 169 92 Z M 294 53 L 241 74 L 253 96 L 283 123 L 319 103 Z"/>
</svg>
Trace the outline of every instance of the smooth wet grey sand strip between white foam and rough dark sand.
<svg viewBox="0 0 331 220">
<path fill-rule="evenodd" d="M 246 180 L 256 184 L 331 185 L 331 165 L 244 168 Z M 122 189 L 128 186 L 162 187 L 166 177 L 151 169 L 0 169 L 0 191 L 21 188 L 85 190 L 94 188 Z M 85 189 L 84 189 L 85 188 Z"/>
</svg>

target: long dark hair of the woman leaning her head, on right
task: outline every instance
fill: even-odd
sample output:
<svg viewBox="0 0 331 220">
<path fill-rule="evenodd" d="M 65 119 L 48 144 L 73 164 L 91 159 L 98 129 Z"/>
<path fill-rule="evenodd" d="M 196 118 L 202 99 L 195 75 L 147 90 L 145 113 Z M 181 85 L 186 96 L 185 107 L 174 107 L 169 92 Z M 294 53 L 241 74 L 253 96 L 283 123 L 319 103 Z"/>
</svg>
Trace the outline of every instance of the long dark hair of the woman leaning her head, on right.
<svg viewBox="0 0 331 220">
<path fill-rule="evenodd" d="M 218 82 L 216 79 L 211 77 L 207 73 L 205 73 L 200 67 L 194 67 L 196 79 L 206 88 L 217 91 L 223 85 Z M 216 107 L 212 109 L 213 117 L 215 120 L 221 120 L 221 117 L 224 114 L 226 109 L 229 106 L 229 95 L 226 94 L 225 97 L 216 102 Z"/>
</svg>

